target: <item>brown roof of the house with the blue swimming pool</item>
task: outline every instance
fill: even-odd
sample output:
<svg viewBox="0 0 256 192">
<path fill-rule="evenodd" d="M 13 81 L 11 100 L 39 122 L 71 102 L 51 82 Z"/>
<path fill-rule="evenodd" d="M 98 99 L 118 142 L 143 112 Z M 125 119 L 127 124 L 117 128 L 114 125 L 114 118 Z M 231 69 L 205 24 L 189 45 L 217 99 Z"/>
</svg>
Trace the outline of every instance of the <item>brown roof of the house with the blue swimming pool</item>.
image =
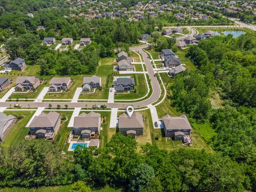
<svg viewBox="0 0 256 192">
<path fill-rule="evenodd" d="M 89 114 L 82 113 L 74 118 L 74 128 L 100 128 L 100 114 L 91 111 Z"/>
</svg>

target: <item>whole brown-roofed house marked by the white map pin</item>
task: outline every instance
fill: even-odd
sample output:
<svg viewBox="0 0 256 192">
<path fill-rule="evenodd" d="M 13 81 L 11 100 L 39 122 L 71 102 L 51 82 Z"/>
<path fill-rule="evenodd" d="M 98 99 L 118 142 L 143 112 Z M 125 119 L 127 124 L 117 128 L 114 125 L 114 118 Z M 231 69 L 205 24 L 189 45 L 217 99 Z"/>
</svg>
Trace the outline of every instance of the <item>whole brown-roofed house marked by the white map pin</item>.
<svg viewBox="0 0 256 192">
<path fill-rule="evenodd" d="M 134 112 L 131 117 L 126 113 L 119 116 L 118 131 L 124 135 L 131 135 L 135 139 L 138 135 L 143 135 L 143 116 Z"/>
</svg>

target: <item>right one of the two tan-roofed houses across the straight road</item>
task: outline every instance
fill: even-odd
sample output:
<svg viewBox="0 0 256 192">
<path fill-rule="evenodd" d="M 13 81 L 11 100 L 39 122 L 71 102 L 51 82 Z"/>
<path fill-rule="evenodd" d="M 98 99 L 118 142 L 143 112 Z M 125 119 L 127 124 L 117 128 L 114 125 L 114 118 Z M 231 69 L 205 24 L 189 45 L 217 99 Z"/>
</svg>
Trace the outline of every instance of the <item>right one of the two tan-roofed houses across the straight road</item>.
<svg viewBox="0 0 256 192">
<path fill-rule="evenodd" d="M 49 92 L 69 90 L 71 84 L 72 80 L 70 77 L 53 77 L 50 81 Z"/>
</svg>

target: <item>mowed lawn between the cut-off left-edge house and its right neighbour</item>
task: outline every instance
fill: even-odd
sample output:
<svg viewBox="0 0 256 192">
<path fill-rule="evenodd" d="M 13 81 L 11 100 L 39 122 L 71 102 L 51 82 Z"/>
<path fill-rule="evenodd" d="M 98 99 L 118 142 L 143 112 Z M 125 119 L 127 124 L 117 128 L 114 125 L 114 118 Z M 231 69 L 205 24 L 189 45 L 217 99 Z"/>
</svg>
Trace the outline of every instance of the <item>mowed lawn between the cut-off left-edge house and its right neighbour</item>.
<svg viewBox="0 0 256 192">
<path fill-rule="evenodd" d="M 20 142 L 25 141 L 25 137 L 29 133 L 29 129 L 26 125 L 35 111 L 4 111 L 4 113 L 6 115 L 22 116 L 22 119 L 13 125 L 1 144 L 5 148 L 17 146 Z"/>
</svg>

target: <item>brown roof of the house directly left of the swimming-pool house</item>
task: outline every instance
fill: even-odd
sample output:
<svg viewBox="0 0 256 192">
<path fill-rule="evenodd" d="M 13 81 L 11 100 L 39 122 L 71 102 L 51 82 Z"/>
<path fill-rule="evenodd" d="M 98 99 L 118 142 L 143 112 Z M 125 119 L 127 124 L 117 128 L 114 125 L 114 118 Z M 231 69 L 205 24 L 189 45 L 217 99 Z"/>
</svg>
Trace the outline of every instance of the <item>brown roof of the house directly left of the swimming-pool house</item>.
<svg viewBox="0 0 256 192">
<path fill-rule="evenodd" d="M 60 114 L 55 111 L 51 111 L 48 114 L 41 113 L 35 116 L 29 127 L 53 127 L 58 121 Z"/>
</svg>

